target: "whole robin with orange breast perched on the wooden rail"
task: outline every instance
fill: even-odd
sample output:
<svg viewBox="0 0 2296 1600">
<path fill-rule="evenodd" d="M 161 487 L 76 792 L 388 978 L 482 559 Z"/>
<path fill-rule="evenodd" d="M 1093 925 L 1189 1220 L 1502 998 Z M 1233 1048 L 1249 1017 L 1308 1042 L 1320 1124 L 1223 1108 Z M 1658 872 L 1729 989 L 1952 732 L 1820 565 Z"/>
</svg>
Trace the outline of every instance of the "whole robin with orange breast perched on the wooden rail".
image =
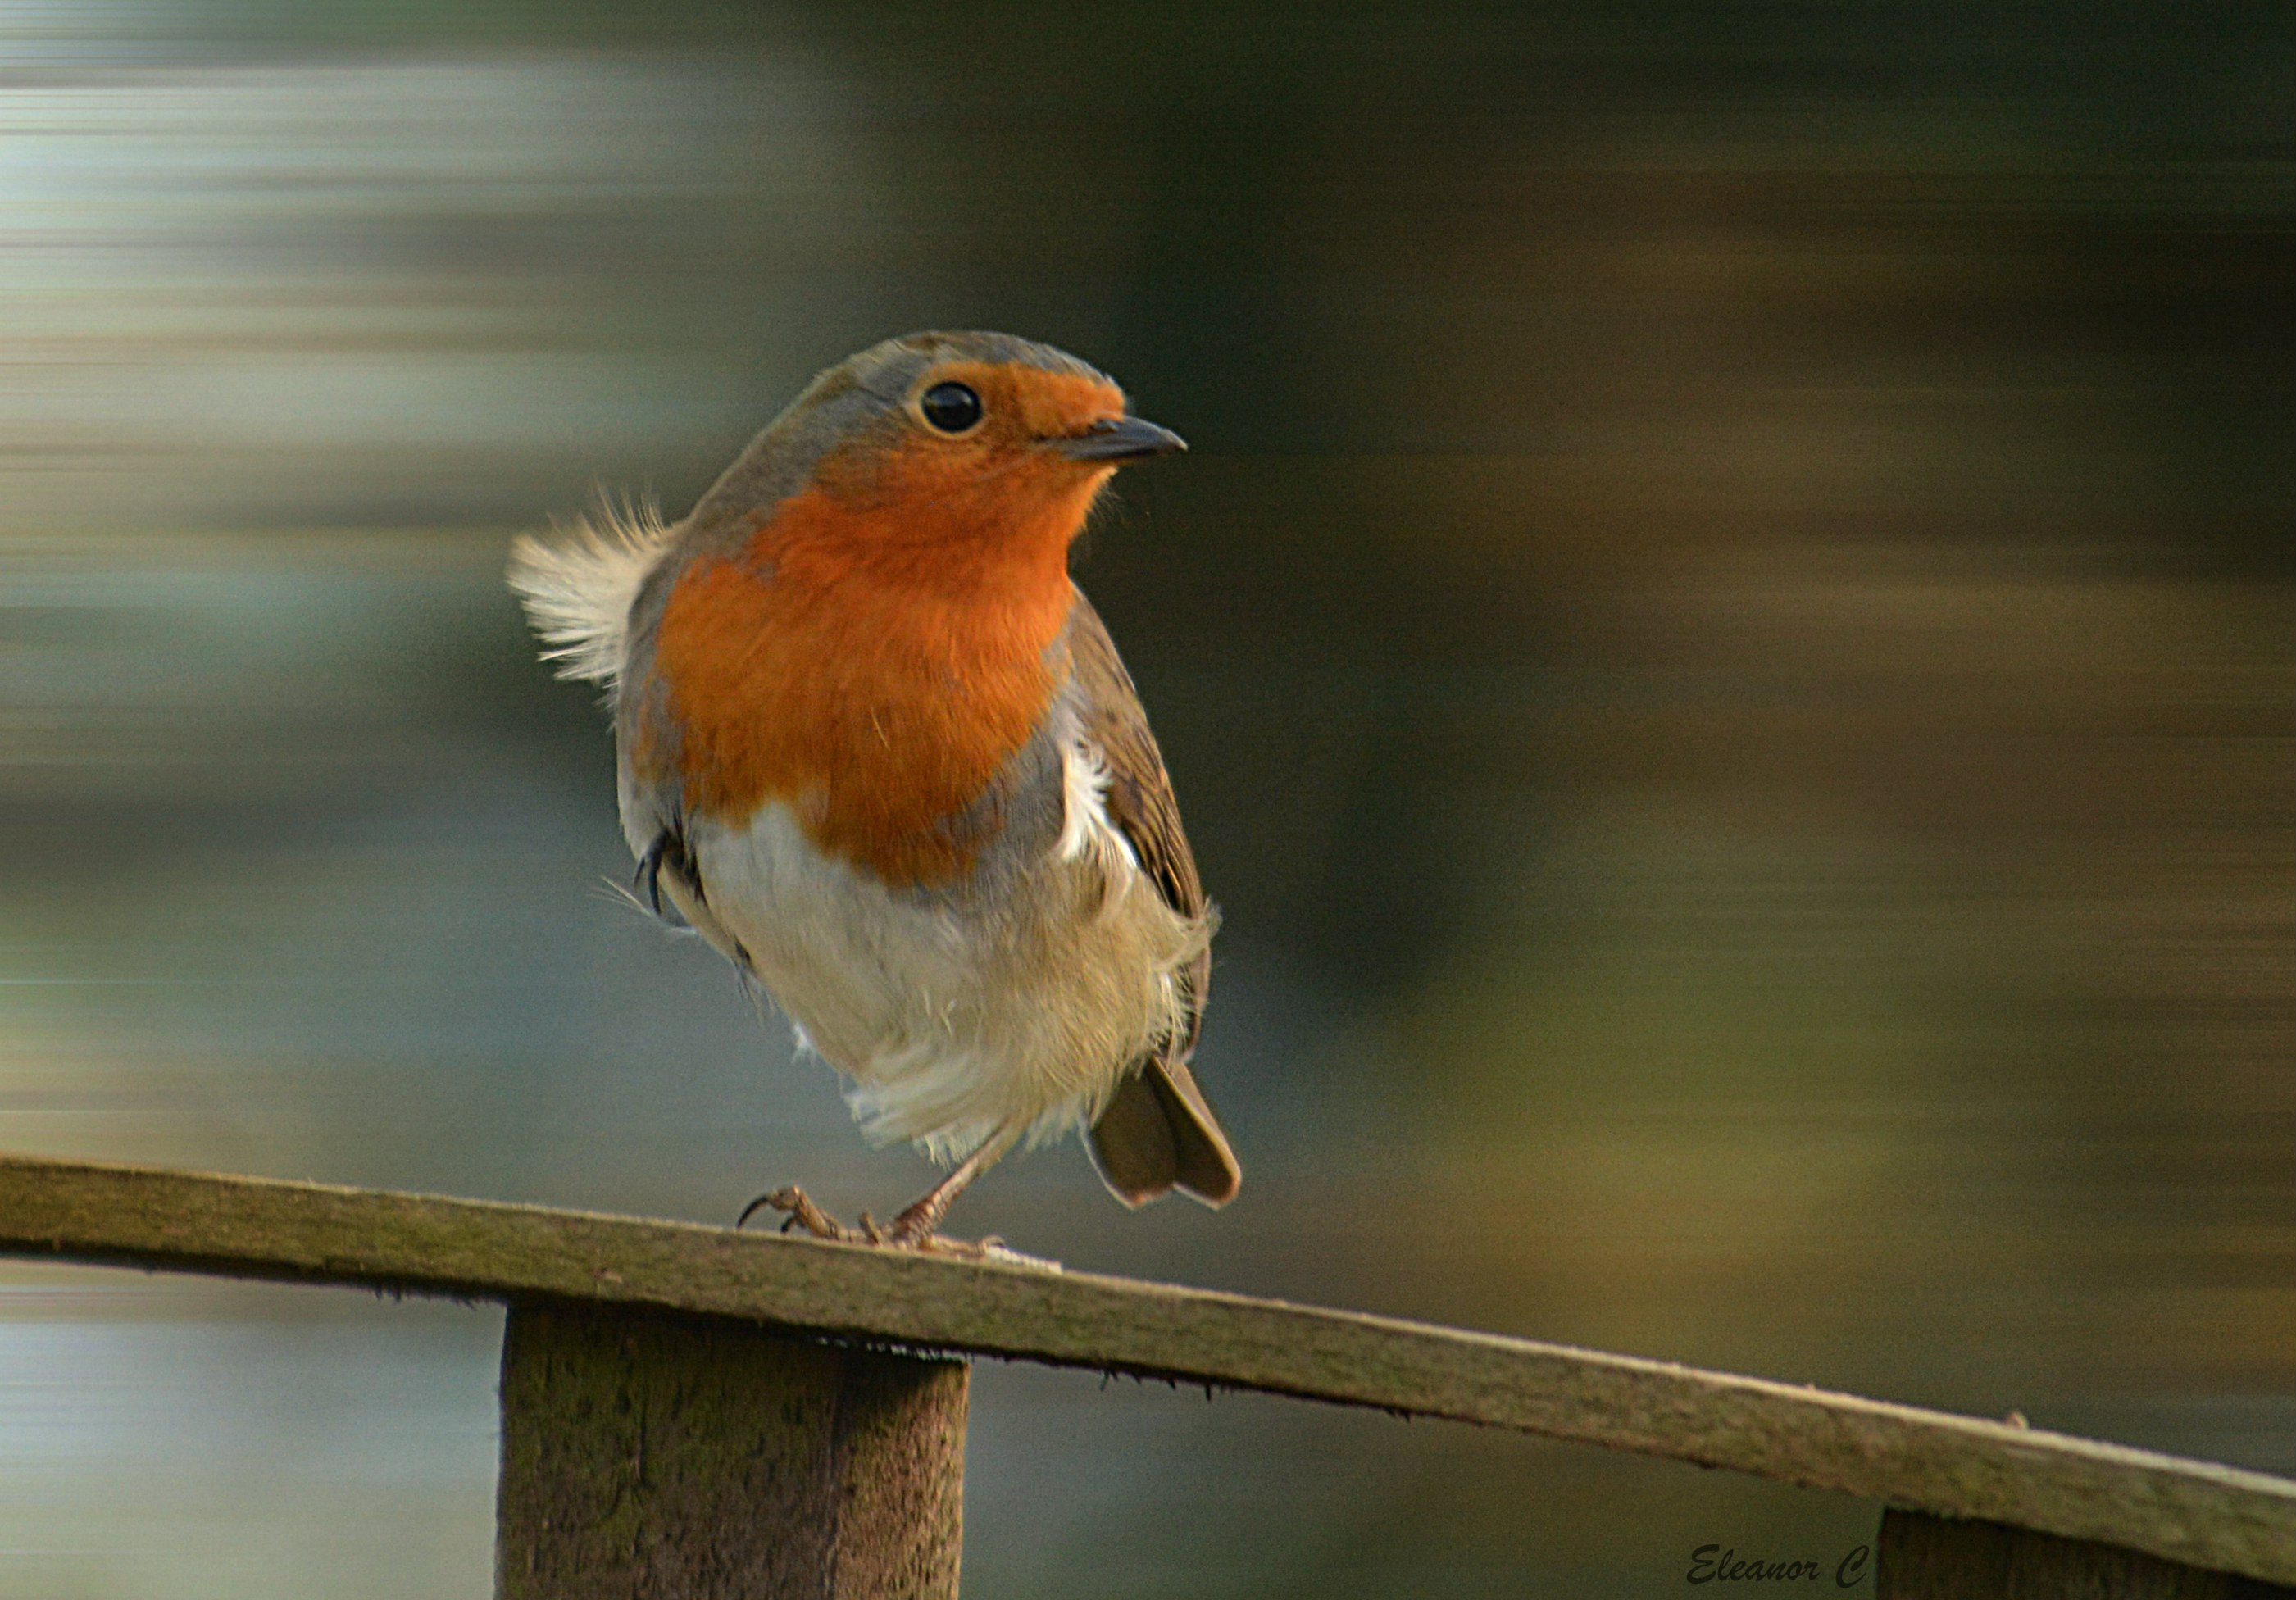
<svg viewBox="0 0 2296 1600">
<path fill-rule="evenodd" d="M 1116 468 L 1185 448 L 1049 344 L 914 333 L 815 376 L 684 521 L 512 549 L 544 657 L 608 686 L 634 898 L 774 996 L 870 1141 L 951 1168 L 884 1228 L 797 1187 L 751 1212 L 978 1253 L 948 1205 L 1070 1127 L 1125 1205 L 1235 1196 L 1187 1067 L 1215 911 L 1068 576 Z"/>
</svg>

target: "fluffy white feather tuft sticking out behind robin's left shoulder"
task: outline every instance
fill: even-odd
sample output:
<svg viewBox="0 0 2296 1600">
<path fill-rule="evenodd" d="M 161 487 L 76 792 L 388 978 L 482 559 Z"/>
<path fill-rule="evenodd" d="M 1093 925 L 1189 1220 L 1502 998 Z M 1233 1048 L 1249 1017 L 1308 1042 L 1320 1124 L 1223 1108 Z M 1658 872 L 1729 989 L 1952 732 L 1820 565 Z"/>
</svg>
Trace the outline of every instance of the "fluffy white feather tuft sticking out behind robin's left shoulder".
<svg viewBox="0 0 2296 1600">
<path fill-rule="evenodd" d="M 629 643 L 629 608 L 661 560 L 673 526 L 652 505 L 599 505 L 549 539 L 521 533 L 510 544 L 510 588 L 549 645 L 558 677 L 590 677 L 613 689 Z"/>
</svg>

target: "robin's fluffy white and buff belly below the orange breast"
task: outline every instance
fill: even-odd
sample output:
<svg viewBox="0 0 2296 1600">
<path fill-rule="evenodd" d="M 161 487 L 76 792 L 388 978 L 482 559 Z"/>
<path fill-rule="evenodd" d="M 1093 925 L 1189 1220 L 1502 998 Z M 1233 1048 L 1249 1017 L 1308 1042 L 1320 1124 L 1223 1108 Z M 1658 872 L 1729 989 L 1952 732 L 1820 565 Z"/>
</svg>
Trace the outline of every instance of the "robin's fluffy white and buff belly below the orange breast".
<svg viewBox="0 0 2296 1600">
<path fill-rule="evenodd" d="M 778 803 L 691 829 L 709 895 L 691 921 L 739 941 L 799 1042 L 850 1079 L 872 1141 L 909 1139 L 937 1162 L 1001 1127 L 1040 1143 L 1097 1118 L 1182 1026 L 1178 973 L 1210 923 L 1178 916 L 1139 872 L 1091 758 L 1072 753 L 1068 778 L 1058 845 L 948 898 L 824 856 Z"/>
</svg>

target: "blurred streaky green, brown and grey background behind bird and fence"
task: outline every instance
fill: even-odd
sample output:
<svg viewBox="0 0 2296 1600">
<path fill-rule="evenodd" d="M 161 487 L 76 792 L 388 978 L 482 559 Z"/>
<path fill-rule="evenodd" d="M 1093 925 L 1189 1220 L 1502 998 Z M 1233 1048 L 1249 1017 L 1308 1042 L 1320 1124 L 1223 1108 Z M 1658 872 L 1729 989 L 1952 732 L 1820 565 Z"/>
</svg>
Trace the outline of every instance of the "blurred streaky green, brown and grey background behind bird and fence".
<svg viewBox="0 0 2296 1600">
<path fill-rule="evenodd" d="M 0 1148 L 723 1221 L 868 1152 L 501 562 L 817 367 L 1079 576 L 1249 1182 L 1077 1267 L 2296 1471 L 2287 5 L 0 5 Z M 0 1269 L 0 1595 L 482 1595 L 482 1308 Z M 983 1366 L 971 1595 L 1665 1595 L 1871 1508 Z"/>
</svg>

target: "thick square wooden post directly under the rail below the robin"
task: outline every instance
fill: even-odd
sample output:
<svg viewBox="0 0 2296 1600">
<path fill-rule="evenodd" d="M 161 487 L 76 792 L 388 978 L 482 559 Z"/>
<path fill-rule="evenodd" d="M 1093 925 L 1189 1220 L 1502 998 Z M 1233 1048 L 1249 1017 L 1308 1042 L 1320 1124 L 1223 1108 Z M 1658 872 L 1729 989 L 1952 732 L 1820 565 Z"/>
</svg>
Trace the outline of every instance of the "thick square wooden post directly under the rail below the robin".
<svg viewBox="0 0 2296 1600">
<path fill-rule="evenodd" d="M 503 1600 L 953 1600 L 967 1366 L 512 1302 Z"/>
</svg>

